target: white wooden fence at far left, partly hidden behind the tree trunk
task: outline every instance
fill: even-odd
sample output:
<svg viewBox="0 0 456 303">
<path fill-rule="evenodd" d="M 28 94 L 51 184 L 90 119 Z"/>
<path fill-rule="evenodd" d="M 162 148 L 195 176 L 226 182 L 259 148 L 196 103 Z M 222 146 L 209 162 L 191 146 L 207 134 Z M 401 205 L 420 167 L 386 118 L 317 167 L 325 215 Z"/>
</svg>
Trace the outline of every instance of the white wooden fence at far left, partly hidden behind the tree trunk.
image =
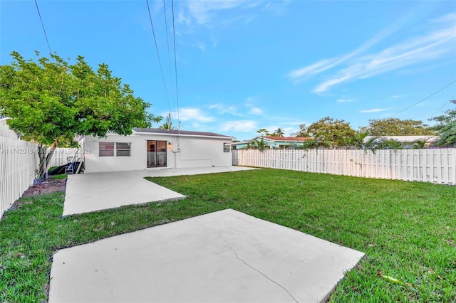
<svg viewBox="0 0 456 303">
<path fill-rule="evenodd" d="M 56 149 L 49 167 L 67 164 L 76 150 Z M 37 151 L 37 144 L 0 136 L 0 218 L 36 179 Z"/>
</svg>

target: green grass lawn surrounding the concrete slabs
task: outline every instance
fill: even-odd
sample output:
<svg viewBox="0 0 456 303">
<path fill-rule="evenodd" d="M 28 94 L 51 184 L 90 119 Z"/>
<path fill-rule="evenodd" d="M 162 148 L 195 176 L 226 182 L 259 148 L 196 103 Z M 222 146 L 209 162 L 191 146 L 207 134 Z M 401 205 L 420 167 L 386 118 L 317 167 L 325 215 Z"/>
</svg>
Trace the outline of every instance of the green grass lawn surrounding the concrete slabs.
<svg viewBox="0 0 456 303">
<path fill-rule="evenodd" d="M 66 218 L 63 193 L 21 199 L 0 220 L 0 302 L 46 300 L 59 248 L 225 208 L 366 252 L 331 302 L 456 302 L 456 186 L 276 169 L 150 180 L 189 198 Z"/>
</svg>

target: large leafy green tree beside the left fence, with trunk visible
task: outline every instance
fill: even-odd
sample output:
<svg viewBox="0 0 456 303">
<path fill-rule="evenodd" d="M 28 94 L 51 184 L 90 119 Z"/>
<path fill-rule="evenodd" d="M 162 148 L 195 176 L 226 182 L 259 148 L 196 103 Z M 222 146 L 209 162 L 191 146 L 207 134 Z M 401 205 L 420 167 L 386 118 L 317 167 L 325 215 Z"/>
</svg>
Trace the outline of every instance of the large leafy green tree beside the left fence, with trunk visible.
<svg viewBox="0 0 456 303">
<path fill-rule="evenodd" d="M 0 115 L 10 117 L 9 127 L 24 139 L 39 144 L 41 177 L 56 147 L 74 147 L 76 135 L 128 135 L 133 127 L 162 119 L 147 113 L 150 104 L 135 97 L 108 65 L 95 72 L 81 56 L 70 65 L 56 54 L 36 55 L 35 62 L 13 52 L 11 65 L 0 66 Z M 47 154 L 46 147 L 51 147 Z"/>
</svg>

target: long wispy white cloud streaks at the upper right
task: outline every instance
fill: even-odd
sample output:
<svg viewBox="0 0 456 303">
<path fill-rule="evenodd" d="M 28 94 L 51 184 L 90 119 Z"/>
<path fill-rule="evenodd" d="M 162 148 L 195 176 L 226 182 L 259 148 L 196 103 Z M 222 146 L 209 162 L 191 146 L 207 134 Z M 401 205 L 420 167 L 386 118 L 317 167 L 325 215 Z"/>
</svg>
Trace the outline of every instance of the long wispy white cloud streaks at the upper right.
<svg viewBox="0 0 456 303">
<path fill-rule="evenodd" d="M 299 83 L 318 73 L 344 66 L 329 75 L 327 80 L 315 87 L 313 92 L 326 92 L 334 85 L 349 81 L 365 79 L 387 73 L 400 68 L 405 68 L 418 63 L 435 60 L 445 60 L 448 55 L 454 56 L 456 43 L 456 14 L 448 14 L 430 21 L 432 28 L 423 36 L 416 36 L 394 46 L 390 46 L 377 53 L 361 55 L 375 43 L 391 33 L 397 31 L 398 26 L 393 26 L 374 36 L 363 46 L 337 58 L 320 60 L 312 65 L 291 71 L 288 76 L 294 83 Z M 438 27 L 438 28 L 437 28 Z"/>
</svg>

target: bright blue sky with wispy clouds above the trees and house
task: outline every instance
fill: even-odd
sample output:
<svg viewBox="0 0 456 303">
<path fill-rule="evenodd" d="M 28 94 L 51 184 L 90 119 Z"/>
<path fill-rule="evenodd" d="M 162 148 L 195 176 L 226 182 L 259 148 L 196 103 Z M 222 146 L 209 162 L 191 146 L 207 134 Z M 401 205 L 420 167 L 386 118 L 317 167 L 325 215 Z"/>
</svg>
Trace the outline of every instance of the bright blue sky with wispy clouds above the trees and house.
<svg viewBox="0 0 456 303">
<path fill-rule="evenodd" d="M 108 64 L 181 129 L 432 124 L 456 97 L 456 1 L 174 1 L 178 102 L 170 0 L 149 1 L 165 81 L 145 0 L 37 2 L 53 52 Z M 0 14 L 0 65 L 49 53 L 34 1 L 1 0 Z"/>
</svg>

